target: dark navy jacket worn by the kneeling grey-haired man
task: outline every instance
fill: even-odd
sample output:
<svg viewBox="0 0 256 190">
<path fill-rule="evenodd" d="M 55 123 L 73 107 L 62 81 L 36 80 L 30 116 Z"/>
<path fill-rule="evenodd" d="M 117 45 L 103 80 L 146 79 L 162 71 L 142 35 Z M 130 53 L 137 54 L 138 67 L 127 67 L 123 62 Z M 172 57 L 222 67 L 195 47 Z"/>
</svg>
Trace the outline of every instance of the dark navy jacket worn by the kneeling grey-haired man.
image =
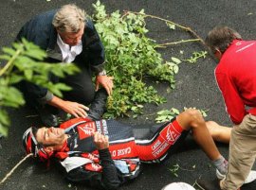
<svg viewBox="0 0 256 190">
<path fill-rule="evenodd" d="M 27 41 L 39 45 L 46 50 L 47 62 L 61 62 L 62 52 L 57 44 L 57 31 L 52 25 L 53 17 L 57 9 L 47 11 L 43 14 L 37 15 L 28 21 L 23 26 L 16 37 L 16 41 L 21 41 L 22 38 Z M 59 51 L 56 51 L 59 48 Z M 54 51 L 55 50 L 55 51 Z M 79 66 L 92 68 L 99 73 L 102 70 L 104 62 L 104 49 L 101 43 L 98 32 L 90 20 L 85 22 L 84 32 L 82 35 L 82 53 L 73 61 Z M 56 77 L 49 77 L 49 80 L 56 82 Z M 27 83 L 26 89 L 29 89 L 29 94 L 32 94 L 36 99 L 48 100 L 51 94 L 46 88 Z"/>
</svg>

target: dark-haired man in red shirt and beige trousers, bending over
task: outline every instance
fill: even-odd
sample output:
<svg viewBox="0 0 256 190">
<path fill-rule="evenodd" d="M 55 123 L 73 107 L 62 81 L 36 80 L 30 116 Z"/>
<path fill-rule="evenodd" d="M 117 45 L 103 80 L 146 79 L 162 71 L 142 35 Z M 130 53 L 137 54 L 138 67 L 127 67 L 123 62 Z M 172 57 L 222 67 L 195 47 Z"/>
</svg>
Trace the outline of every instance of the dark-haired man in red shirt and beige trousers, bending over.
<svg viewBox="0 0 256 190">
<path fill-rule="evenodd" d="M 219 60 L 215 77 L 231 121 L 229 169 L 223 190 L 237 190 L 246 181 L 256 157 L 256 41 L 243 41 L 228 26 L 216 26 L 206 43 Z"/>
</svg>

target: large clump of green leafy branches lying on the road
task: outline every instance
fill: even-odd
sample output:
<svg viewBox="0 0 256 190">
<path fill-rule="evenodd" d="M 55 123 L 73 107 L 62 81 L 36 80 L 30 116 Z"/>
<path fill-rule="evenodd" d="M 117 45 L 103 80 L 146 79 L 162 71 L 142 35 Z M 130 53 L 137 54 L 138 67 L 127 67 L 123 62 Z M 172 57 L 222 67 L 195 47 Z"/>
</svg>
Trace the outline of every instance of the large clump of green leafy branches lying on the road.
<svg viewBox="0 0 256 190">
<path fill-rule="evenodd" d="M 105 47 L 106 70 L 115 78 L 114 94 L 108 98 L 105 116 L 130 116 L 128 112 L 136 116 L 142 113 L 143 107 L 139 105 L 166 102 L 143 78 L 151 76 L 174 84 L 178 59 L 173 60 L 175 65 L 165 64 L 155 50 L 155 41 L 145 36 L 148 29 L 144 10 L 140 14 L 126 12 L 124 15 L 117 10 L 109 15 L 100 1 L 93 7 L 95 26 Z"/>
</svg>

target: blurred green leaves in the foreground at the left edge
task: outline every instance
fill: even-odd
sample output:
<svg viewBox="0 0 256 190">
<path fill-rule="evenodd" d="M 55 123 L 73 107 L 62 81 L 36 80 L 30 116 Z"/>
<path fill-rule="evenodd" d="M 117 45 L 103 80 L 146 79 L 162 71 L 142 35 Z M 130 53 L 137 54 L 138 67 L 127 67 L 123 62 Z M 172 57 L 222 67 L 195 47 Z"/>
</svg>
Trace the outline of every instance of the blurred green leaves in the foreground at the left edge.
<svg viewBox="0 0 256 190">
<path fill-rule="evenodd" d="M 48 81 L 48 75 L 52 73 L 63 78 L 65 74 L 72 75 L 79 69 L 69 63 L 43 62 L 46 52 L 25 39 L 22 43 L 13 43 L 12 47 L 4 47 L 3 52 L 0 60 L 7 60 L 7 63 L 0 62 L 0 134 L 6 136 L 10 123 L 6 109 L 18 108 L 25 104 L 23 95 L 15 87 L 18 82 L 27 80 L 46 87 L 55 95 L 62 96 L 62 91 L 70 90 L 70 87 L 64 83 L 54 84 Z"/>
</svg>

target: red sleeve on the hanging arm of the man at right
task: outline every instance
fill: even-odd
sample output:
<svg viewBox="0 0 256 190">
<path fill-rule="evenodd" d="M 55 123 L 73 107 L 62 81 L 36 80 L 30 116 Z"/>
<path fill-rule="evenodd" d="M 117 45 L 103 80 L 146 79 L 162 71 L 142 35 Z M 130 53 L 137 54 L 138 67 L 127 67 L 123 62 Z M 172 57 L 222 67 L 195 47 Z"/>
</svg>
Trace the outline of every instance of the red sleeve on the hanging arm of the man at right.
<svg viewBox="0 0 256 190">
<path fill-rule="evenodd" d="M 216 71 L 215 77 L 224 97 L 230 119 L 234 124 L 240 124 L 247 114 L 247 111 L 234 82 L 227 76 L 227 74 L 218 73 Z"/>
</svg>

